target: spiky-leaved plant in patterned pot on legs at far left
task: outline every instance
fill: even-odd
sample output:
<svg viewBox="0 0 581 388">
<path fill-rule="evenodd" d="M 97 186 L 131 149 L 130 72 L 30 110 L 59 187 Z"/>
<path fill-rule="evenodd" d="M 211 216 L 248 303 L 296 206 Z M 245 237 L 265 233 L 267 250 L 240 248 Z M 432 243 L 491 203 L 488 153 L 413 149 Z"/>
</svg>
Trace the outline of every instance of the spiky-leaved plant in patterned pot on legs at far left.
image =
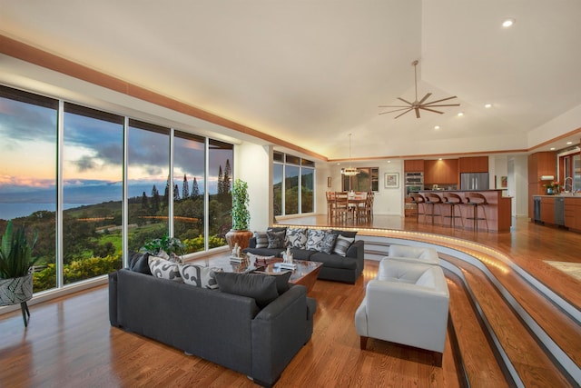
<svg viewBox="0 0 581 388">
<path fill-rule="evenodd" d="M 28 325 L 27 316 L 30 317 L 26 302 L 33 297 L 32 267 L 38 260 L 33 258 L 37 237 L 38 231 L 29 242 L 24 226 L 14 233 L 10 220 L 0 245 L 0 306 L 20 303 L 25 326 Z"/>
</svg>

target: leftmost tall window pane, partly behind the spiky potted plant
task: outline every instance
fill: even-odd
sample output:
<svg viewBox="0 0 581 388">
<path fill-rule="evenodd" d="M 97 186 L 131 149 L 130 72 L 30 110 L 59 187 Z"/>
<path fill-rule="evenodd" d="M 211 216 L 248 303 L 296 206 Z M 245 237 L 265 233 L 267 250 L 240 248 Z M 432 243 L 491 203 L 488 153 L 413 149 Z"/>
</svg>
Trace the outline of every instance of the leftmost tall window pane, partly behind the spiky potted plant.
<svg viewBox="0 0 581 388">
<path fill-rule="evenodd" d="M 58 101 L 0 85 L 0 234 L 38 231 L 34 292 L 56 287 Z"/>
</svg>

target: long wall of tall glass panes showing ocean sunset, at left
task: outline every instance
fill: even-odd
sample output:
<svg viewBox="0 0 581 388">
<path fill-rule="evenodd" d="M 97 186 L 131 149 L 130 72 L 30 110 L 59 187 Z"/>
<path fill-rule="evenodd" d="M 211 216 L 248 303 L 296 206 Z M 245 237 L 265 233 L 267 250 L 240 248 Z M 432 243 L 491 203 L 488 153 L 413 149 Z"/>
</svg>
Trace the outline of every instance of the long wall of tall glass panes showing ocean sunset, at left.
<svg viewBox="0 0 581 388">
<path fill-rule="evenodd" d="M 11 219 L 38 231 L 34 292 L 163 234 L 186 253 L 225 245 L 232 163 L 232 144 L 0 85 L 0 234 Z"/>
</svg>

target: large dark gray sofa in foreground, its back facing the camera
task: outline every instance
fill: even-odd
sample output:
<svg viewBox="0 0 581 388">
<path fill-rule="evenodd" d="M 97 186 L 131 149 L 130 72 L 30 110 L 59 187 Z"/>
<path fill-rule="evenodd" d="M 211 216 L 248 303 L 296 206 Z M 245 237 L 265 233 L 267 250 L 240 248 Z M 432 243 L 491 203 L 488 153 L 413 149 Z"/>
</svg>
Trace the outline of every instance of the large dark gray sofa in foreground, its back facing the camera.
<svg viewBox="0 0 581 388">
<path fill-rule="evenodd" d="M 109 274 L 109 318 L 113 326 L 271 386 L 309 342 L 317 306 L 302 285 L 274 293 L 260 308 L 258 298 L 122 269 Z"/>
</svg>

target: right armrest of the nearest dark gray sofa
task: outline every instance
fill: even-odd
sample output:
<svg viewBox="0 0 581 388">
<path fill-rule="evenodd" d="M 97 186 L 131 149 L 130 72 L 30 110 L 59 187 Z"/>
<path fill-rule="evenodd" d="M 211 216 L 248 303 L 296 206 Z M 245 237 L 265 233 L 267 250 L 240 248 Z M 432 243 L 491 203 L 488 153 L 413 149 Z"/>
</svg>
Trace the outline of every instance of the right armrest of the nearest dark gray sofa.
<svg viewBox="0 0 581 388">
<path fill-rule="evenodd" d="M 300 348 L 309 341 L 307 289 L 291 287 L 252 320 L 252 378 L 275 383 Z M 309 333 L 309 334 L 307 334 Z"/>
</svg>

